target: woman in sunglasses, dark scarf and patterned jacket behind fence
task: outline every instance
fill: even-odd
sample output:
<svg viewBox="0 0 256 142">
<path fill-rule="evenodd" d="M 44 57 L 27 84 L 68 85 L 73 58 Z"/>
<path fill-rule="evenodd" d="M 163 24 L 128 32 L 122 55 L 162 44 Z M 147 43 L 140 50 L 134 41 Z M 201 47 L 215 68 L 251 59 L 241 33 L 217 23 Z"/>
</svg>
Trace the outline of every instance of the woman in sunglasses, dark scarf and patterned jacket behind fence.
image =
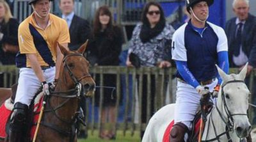
<svg viewBox="0 0 256 142">
<path fill-rule="evenodd" d="M 163 8 L 159 3 L 149 2 L 145 5 L 141 17 L 141 22 L 137 24 L 132 33 L 126 65 L 128 67 L 172 67 L 170 50 L 174 29 L 166 23 Z M 139 61 L 136 63 L 136 60 Z M 147 82 L 147 75 L 144 75 L 141 123 L 147 123 Z M 154 114 L 155 88 L 155 77 L 151 75 L 151 116 Z M 144 130 L 141 131 L 141 138 L 143 134 Z"/>
</svg>

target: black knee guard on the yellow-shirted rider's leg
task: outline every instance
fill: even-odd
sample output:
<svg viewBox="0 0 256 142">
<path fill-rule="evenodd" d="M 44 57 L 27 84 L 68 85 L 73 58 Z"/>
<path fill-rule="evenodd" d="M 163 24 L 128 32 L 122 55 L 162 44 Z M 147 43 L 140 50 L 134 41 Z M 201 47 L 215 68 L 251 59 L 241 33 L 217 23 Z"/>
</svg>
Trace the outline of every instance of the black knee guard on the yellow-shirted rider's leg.
<svg viewBox="0 0 256 142">
<path fill-rule="evenodd" d="M 10 122 L 11 130 L 22 130 L 22 127 L 26 125 L 26 116 L 28 113 L 28 106 L 20 102 L 15 103 L 13 107 L 13 113 Z"/>
</svg>

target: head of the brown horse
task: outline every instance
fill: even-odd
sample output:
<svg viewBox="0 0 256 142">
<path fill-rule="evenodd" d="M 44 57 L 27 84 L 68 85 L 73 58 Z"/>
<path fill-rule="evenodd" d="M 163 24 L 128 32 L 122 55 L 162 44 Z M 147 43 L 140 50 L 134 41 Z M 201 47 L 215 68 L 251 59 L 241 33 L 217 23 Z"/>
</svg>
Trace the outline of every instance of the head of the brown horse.
<svg viewBox="0 0 256 142">
<path fill-rule="evenodd" d="M 65 47 L 59 45 L 63 58 L 63 72 L 60 72 L 68 88 L 78 86 L 81 95 L 92 97 L 95 91 L 95 82 L 89 73 L 89 62 L 84 58 L 88 41 L 81 45 L 77 51 L 67 51 Z"/>
</svg>

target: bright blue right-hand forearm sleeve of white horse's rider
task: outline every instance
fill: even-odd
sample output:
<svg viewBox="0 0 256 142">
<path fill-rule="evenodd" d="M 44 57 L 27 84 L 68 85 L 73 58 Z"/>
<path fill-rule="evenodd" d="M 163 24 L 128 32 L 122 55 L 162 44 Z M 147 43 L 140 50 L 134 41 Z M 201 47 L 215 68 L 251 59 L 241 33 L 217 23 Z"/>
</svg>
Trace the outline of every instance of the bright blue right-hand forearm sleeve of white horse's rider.
<svg viewBox="0 0 256 142">
<path fill-rule="evenodd" d="M 218 66 L 221 68 L 221 70 L 223 70 L 226 74 L 228 74 L 229 63 L 228 63 L 227 51 L 218 52 Z M 221 84 L 222 79 L 219 74 L 217 75 L 217 78 L 218 78 L 218 84 Z"/>
</svg>

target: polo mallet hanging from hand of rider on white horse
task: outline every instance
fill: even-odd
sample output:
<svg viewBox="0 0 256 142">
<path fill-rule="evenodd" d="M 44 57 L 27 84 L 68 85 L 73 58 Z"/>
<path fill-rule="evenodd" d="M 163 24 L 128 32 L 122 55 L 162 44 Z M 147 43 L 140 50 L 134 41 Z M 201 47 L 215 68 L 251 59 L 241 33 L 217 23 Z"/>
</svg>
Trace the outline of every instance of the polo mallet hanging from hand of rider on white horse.
<svg viewBox="0 0 256 142">
<path fill-rule="evenodd" d="M 209 90 L 209 87 L 205 87 L 205 90 Z M 211 93 L 207 93 L 207 94 L 203 95 L 202 98 L 200 99 L 202 115 L 200 118 L 200 129 L 199 129 L 198 142 L 202 141 L 202 132 L 204 130 L 204 123 L 207 120 L 207 111 L 209 109 L 210 98 L 211 98 Z"/>
</svg>

